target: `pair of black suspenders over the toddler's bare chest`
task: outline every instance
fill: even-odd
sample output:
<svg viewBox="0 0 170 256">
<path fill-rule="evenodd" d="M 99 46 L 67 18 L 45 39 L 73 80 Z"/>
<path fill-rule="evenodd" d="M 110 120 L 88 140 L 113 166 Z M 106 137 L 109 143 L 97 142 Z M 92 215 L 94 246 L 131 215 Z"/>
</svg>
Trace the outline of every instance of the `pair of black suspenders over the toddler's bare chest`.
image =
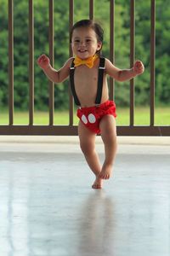
<svg viewBox="0 0 170 256">
<path fill-rule="evenodd" d="M 74 97 L 75 103 L 77 104 L 77 106 L 81 106 L 81 104 L 78 100 L 78 97 L 77 97 L 76 90 L 75 90 L 75 84 L 74 84 L 75 67 L 74 67 L 74 62 L 73 61 L 71 63 L 71 68 L 70 68 L 71 91 L 72 91 L 72 95 Z M 96 105 L 99 105 L 100 102 L 101 102 L 102 90 L 103 90 L 104 70 L 105 70 L 105 58 L 100 57 L 99 58 L 99 73 L 98 73 L 98 90 L 97 90 L 97 95 L 96 95 L 96 99 L 95 99 L 95 104 Z"/>
</svg>

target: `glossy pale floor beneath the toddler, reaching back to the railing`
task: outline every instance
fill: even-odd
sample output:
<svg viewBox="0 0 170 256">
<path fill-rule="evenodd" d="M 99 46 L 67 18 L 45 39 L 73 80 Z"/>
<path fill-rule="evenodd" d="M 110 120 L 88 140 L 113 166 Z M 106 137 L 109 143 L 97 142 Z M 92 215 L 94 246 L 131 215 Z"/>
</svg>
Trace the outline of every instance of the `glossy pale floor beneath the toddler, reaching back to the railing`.
<svg viewBox="0 0 170 256">
<path fill-rule="evenodd" d="M 0 142 L 0 256 L 170 255 L 170 145 L 121 143 L 93 181 L 77 140 Z"/>
</svg>

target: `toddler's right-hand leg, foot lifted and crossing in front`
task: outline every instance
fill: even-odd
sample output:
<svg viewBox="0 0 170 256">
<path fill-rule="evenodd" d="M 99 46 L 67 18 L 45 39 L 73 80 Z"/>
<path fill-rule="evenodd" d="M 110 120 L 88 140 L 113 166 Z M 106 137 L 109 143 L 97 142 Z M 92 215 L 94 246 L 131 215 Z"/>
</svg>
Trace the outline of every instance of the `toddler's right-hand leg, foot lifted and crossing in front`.
<svg viewBox="0 0 170 256">
<path fill-rule="evenodd" d="M 105 144 L 105 162 L 99 174 L 100 178 L 111 176 L 112 166 L 116 156 L 116 119 L 112 115 L 105 115 L 99 124 L 101 137 Z"/>
</svg>

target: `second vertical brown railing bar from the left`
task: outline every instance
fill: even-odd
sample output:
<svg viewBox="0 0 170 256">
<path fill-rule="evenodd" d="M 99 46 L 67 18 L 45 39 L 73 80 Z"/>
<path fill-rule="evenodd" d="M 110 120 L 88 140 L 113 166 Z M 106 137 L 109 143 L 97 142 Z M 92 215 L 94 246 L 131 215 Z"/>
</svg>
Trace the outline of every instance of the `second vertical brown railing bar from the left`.
<svg viewBox="0 0 170 256">
<path fill-rule="evenodd" d="M 33 1 L 29 1 L 29 125 L 34 119 L 34 10 Z"/>
</svg>

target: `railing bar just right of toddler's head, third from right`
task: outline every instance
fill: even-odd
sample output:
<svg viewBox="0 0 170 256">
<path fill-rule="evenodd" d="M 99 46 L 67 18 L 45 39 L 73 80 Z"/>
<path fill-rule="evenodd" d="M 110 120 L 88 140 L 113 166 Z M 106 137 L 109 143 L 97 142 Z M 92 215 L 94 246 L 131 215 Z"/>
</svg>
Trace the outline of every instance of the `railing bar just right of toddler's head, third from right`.
<svg viewBox="0 0 170 256">
<path fill-rule="evenodd" d="M 115 0 L 110 1 L 110 61 L 115 62 Z M 110 99 L 113 100 L 115 93 L 115 79 L 110 77 Z"/>
</svg>

